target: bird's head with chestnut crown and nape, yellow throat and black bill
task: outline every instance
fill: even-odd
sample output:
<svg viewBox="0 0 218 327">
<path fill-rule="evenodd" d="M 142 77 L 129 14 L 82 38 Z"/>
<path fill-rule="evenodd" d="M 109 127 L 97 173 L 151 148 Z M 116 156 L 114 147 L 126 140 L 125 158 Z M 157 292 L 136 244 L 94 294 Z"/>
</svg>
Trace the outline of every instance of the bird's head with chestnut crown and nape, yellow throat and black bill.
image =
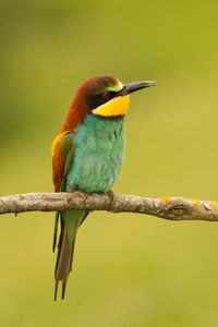
<svg viewBox="0 0 218 327">
<path fill-rule="evenodd" d="M 86 80 L 76 90 L 62 131 L 73 130 L 87 113 L 100 117 L 123 117 L 130 104 L 130 94 L 154 86 L 156 82 L 143 81 L 122 84 L 113 75 Z"/>
</svg>

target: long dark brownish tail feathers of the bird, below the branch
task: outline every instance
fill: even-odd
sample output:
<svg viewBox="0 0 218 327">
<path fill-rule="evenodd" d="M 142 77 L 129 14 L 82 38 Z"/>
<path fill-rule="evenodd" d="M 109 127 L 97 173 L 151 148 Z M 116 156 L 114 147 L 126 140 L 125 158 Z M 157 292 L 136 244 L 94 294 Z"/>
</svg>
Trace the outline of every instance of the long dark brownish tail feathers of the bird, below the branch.
<svg viewBox="0 0 218 327">
<path fill-rule="evenodd" d="M 62 281 L 62 296 L 64 299 L 65 294 L 65 287 L 69 274 L 72 270 L 72 262 L 73 262 L 73 252 L 74 252 L 74 243 L 70 242 L 66 234 L 66 227 L 64 223 L 61 223 L 61 234 L 58 244 L 58 256 L 56 262 L 56 270 L 55 270 L 55 278 L 56 278 L 56 289 L 55 289 L 55 301 L 57 300 L 57 292 L 59 287 L 59 281 Z"/>
</svg>

